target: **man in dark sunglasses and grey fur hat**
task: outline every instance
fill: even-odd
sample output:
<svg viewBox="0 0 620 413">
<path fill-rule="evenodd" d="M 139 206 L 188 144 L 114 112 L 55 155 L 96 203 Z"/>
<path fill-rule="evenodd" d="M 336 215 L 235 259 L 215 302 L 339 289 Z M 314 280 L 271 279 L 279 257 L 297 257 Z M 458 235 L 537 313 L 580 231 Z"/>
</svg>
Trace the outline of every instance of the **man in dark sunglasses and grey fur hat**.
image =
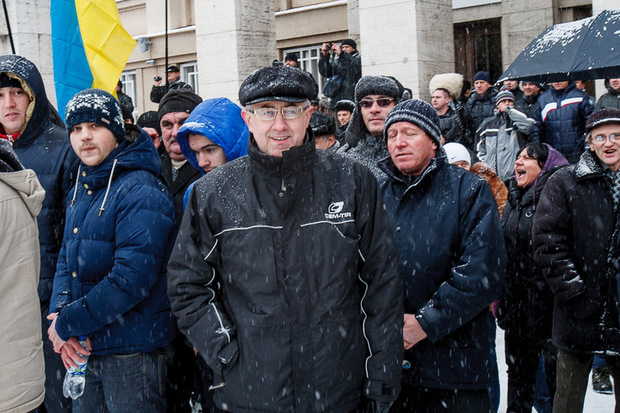
<svg viewBox="0 0 620 413">
<path fill-rule="evenodd" d="M 385 118 L 403 95 L 403 86 L 393 77 L 364 76 L 355 86 L 355 109 L 340 153 L 370 168 L 377 180 L 386 177 L 377 163 L 388 157 L 383 126 Z"/>
</svg>

